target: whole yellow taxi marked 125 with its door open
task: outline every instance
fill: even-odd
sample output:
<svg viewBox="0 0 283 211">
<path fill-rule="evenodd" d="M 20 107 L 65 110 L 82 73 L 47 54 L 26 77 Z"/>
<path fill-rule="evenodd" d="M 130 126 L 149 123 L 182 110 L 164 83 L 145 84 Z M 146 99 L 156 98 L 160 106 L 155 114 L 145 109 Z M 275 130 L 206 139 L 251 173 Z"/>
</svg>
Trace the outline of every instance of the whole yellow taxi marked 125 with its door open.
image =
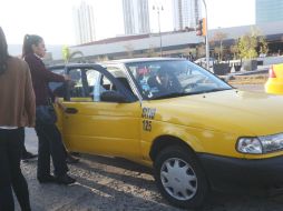
<svg viewBox="0 0 283 211">
<path fill-rule="evenodd" d="M 68 150 L 153 168 L 170 203 L 197 208 L 209 190 L 282 187 L 283 97 L 236 90 L 183 59 L 51 70 L 74 81 L 66 92 L 51 86 L 66 107 L 57 112 Z"/>
</svg>

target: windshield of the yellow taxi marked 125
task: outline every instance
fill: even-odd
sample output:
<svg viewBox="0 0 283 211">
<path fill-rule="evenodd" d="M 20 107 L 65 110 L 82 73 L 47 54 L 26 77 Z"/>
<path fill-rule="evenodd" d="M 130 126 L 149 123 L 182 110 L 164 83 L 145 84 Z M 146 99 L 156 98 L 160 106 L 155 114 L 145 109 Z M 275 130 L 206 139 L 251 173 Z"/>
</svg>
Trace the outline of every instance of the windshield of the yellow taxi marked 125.
<svg viewBox="0 0 283 211">
<path fill-rule="evenodd" d="M 233 89 L 207 70 L 187 60 L 127 63 L 145 99 L 165 99 Z"/>
</svg>

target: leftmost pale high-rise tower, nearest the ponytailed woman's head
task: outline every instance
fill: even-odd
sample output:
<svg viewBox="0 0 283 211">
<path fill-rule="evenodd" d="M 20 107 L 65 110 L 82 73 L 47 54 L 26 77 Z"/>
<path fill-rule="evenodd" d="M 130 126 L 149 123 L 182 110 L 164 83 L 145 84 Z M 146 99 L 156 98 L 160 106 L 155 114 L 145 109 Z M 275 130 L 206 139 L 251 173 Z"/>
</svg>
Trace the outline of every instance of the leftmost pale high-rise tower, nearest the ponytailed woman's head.
<svg viewBox="0 0 283 211">
<path fill-rule="evenodd" d="M 74 8 L 74 22 L 76 43 L 84 44 L 96 40 L 95 19 L 92 6 L 81 1 L 80 6 Z"/>
</svg>

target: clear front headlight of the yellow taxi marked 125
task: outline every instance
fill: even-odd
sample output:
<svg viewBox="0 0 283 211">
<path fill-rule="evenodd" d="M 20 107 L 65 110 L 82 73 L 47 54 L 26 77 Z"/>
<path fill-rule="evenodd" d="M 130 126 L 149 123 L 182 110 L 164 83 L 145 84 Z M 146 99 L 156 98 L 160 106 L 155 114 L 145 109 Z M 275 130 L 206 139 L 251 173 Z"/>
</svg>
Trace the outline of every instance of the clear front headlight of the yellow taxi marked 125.
<svg viewBox="0 0 283 211">
<path fill-rule="evenodd" d="M 236 143 L 237 151 L 248 154 L 262 154 L 283 149 L 283 133 L 264 137 L 240 138 Z"/>
</svg>

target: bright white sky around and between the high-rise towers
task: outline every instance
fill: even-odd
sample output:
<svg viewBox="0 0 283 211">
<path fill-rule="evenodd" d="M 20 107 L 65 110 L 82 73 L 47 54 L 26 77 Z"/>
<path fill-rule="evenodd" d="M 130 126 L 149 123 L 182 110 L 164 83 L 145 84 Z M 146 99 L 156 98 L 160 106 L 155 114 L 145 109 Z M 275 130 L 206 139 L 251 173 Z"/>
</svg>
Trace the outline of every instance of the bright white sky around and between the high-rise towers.
<svg viewBox="0 0 283 211">
<path fill-rule="evenodd" d="M 121 0 L 86 1 L 94 6 L 98 40 L 124 33 Z M 255 22 L 255 0 L 205 1 L 209 29 Z M 79 3 L 80 0 L 0 0 L 0 27 L 8 44 L 21 44 L 26 33 L 41 36 L 47 44 L 76 44 L 72 8 Z M 152 10 L 153 4 L 164 7 L 160 12 L 162 31 L 172 31 L 170 0 L 149 0 L 150 30 L 157 32 L 157 12 Z"/>
</svg>

